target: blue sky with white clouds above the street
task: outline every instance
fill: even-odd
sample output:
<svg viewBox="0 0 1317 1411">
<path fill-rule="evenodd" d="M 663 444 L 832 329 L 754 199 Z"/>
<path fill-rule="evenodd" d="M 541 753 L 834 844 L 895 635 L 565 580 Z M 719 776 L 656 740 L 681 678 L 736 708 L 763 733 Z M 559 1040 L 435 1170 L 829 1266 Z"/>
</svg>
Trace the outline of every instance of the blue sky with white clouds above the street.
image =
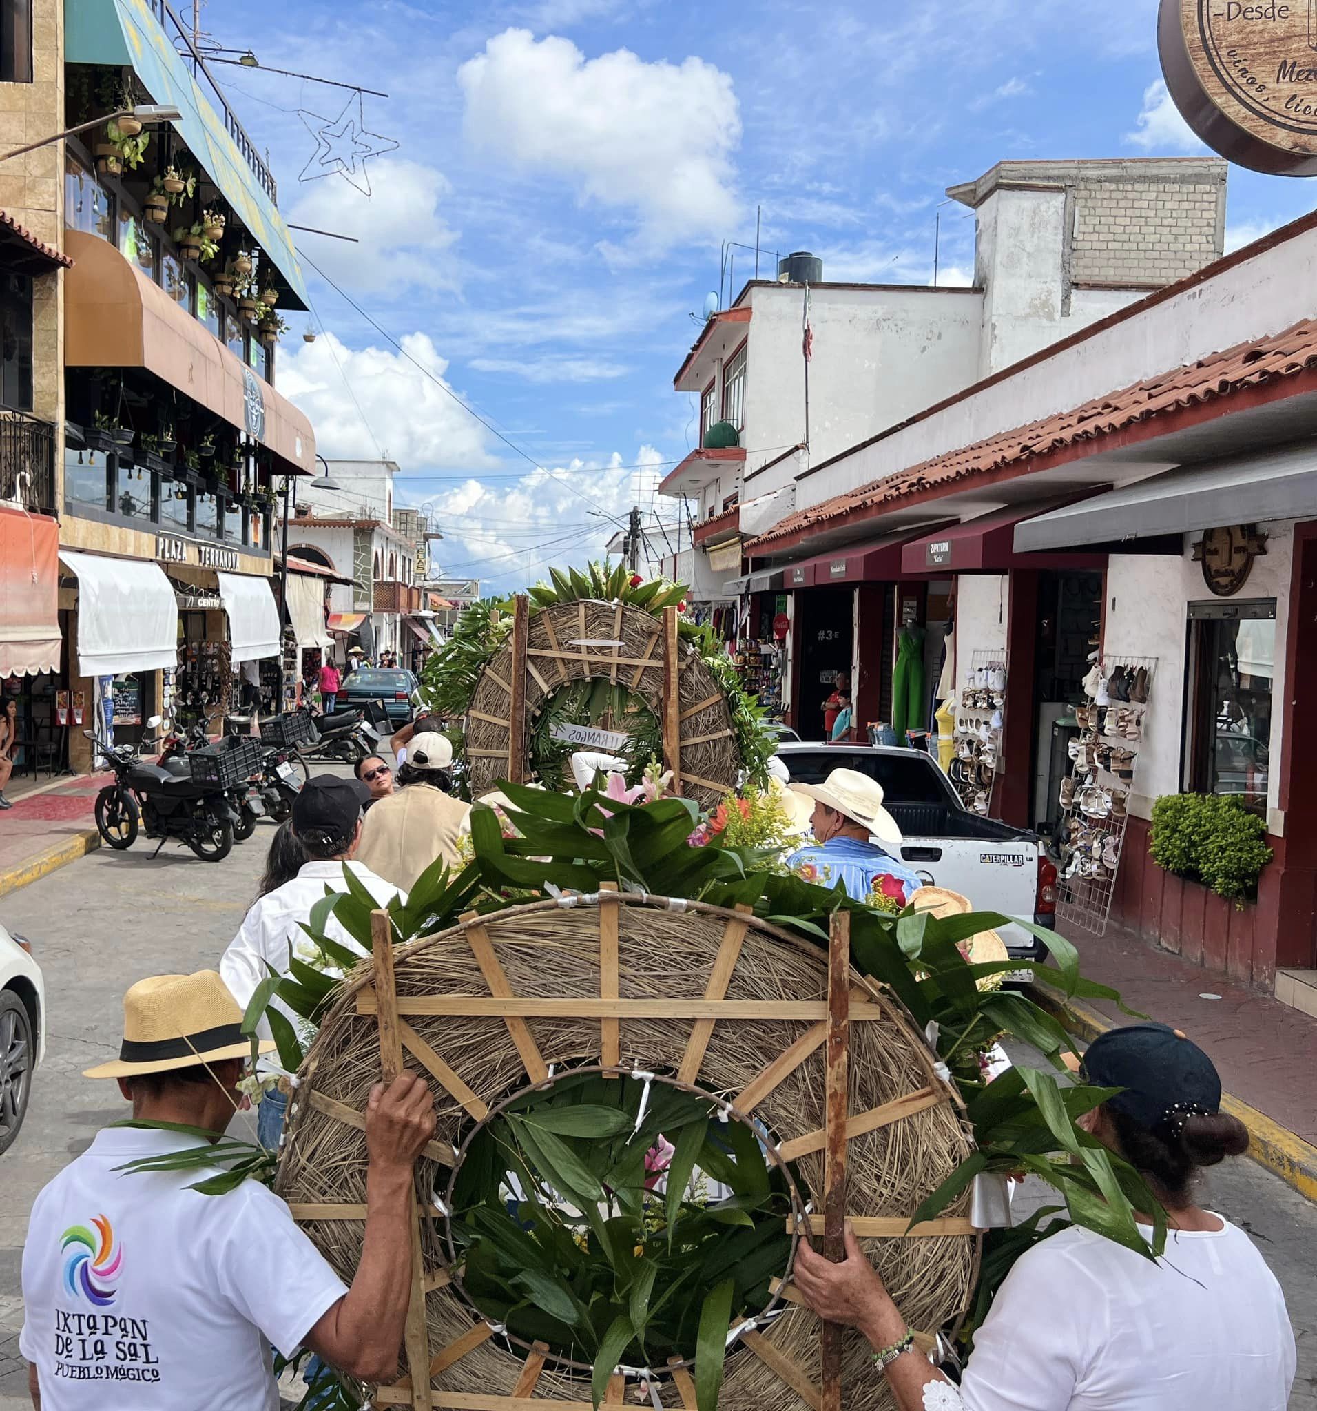
<svg viewBox="0 0 1317 1411">
<path fill-rule="evenodd" d="M 212 0 L 214 42 L 381 89 L 372 195 L 300 183 L 298 116 L 350 95 L 217 75 L 269 148 L 285 216 L 360 237 L 302 251 L 314 325 L 281 387 L 330 456 L 389 454 L 443 562 L 491 586 L 598 555 L 692 444 L 671 389 L 723 240 L 809 248 L 825 277 L 928 282 L 943 189 L 1003 158 L 1201 151 L 1158 87 L 1155 0 Z M 1228 244 L 1310 209 L 1303 182 L 1231 171 Z M 943 278 L 973 220 L 943 210 Z M 736 285 L 753 255 L 736 253 Z M 767 264 L 763 268 L 768 268 Z M 472 420 L 460 394 L 525 456 Z M 536 470 L 534 467 L 541 467 Z M 594 514 L 592 514 L 594 511 Z"/>
</svg>

